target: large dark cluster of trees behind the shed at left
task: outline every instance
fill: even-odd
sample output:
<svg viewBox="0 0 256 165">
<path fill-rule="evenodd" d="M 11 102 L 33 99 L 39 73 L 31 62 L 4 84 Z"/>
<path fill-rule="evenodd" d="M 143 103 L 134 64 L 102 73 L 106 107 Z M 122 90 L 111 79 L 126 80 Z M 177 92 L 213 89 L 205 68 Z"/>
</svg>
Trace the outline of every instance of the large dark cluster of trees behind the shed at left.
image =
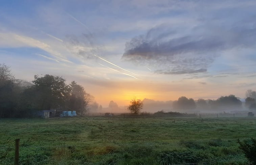
<svg viewBox="0 0 256 165">
<path fill-rule="evenodd" d="M 92 103 L 92 104 L 91 104 Z M 99 108 L 83 86 L 59 76 L 35 75 L 32 83 L 15 79 L 5 64 L 0 64 L 0 118 L 26 117 L 38 110 L 75 110 L 83 114 Z"/>
</svg>

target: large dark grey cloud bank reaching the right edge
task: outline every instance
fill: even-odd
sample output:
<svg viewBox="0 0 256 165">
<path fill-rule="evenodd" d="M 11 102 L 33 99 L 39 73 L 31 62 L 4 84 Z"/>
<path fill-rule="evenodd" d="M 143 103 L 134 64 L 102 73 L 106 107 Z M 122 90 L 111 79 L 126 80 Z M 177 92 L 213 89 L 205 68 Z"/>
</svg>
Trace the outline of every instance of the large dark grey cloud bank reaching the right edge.
<svg viewBox="0 0 256 165">
<path fill-rule="evenodd" d="M 163 24 L 127 42 L 122 59 L 150 65 L 158 74 L 203 73 L 224 51 L 255 48 L 255 38 L 256 24 L 226 27 L 201 22 L 192 29 Z"/>
</svg>

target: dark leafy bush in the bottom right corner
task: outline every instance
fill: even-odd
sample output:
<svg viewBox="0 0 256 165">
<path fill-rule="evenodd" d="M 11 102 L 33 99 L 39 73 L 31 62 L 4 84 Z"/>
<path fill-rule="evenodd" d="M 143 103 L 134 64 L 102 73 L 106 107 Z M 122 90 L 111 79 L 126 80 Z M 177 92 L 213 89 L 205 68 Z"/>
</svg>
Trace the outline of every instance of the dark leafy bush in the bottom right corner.
<svg viewBox="0 0 256 165">
<path fill-rule="evenodd" d="M 249 142 L 241 142 L 239 139 L 237 140 L 239 143 L 239 148 L 243 150 L 243 153 L 247 157 L 247 159 L 251 162 L 251 164 L 256 164 L 256 139 L 251 138 Z"/>
</svg>

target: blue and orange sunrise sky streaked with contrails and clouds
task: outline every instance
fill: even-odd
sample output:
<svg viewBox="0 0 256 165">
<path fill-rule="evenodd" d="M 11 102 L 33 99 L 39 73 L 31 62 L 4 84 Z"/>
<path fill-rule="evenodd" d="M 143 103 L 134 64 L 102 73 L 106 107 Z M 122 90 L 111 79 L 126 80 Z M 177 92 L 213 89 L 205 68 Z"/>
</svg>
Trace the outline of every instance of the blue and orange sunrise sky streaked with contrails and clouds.
<svg viewBox="0 0 256 165">
<path fill-rule="evenodd" d="M 75 80 L 107 107 L 245 98 L 256 90 L 255 0 L 59 0 L 0 5 L 0 63 Z"/>
</svg>

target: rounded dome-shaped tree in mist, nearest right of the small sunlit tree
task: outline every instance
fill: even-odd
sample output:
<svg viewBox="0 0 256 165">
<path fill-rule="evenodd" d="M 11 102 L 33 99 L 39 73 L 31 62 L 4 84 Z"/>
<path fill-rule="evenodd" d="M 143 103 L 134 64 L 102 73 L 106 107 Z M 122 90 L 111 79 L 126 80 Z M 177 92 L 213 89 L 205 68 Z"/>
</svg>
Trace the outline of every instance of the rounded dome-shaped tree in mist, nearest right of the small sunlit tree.
<svg viewBox="0 0 256 165">
<path fill-rule="evenodd" d="M 178 110 L 188 110 L 188 109 L 195 109 L 195 101 L 194 99 L 186 98 L 184 96 L 180 97 L 178 101 L 173 102 L 173 108 Z"/>
</svg>

